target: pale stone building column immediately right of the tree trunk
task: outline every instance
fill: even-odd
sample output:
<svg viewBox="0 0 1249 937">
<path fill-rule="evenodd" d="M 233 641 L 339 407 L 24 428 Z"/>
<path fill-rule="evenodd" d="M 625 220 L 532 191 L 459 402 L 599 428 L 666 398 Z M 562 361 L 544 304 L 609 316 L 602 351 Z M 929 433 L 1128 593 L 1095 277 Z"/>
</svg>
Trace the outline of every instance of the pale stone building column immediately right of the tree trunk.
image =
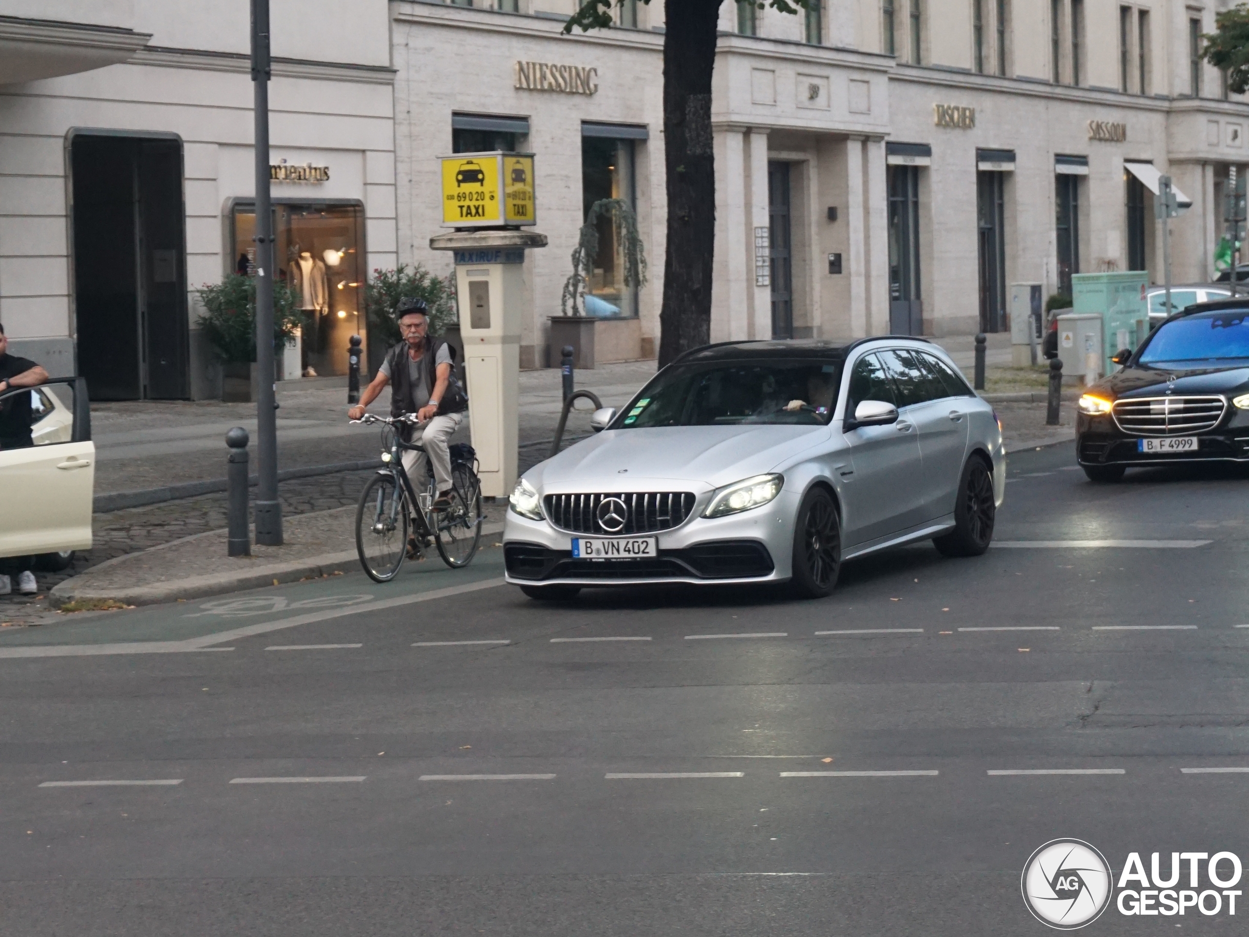
<svg viewBox="0 0 1249 937">
<path fill-rule="evenodd" d="M 736 341 L 747 332 L 746 256 L 747 186 L 746 134 L 741 130 L 716 131 L 716 256 L 712 264 L 711 340 Z M 753 245 L 751 251 L 753 254 Z M 754 264 L 749 269 L 754 285 Z"/>
</svg>

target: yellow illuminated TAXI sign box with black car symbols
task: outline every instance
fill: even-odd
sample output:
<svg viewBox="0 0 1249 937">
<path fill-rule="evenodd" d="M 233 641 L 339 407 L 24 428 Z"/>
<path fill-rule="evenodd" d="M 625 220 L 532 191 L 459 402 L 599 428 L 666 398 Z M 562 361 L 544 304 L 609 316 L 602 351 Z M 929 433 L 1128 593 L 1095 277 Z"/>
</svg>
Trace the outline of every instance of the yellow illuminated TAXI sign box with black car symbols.
<svg viewBox="0 0 1249 937">
<path fill-rule="evenodd" d="M 533 154 L 460 152 L 442 156 L 442 226 L 532 225 Z"/>
</svg>

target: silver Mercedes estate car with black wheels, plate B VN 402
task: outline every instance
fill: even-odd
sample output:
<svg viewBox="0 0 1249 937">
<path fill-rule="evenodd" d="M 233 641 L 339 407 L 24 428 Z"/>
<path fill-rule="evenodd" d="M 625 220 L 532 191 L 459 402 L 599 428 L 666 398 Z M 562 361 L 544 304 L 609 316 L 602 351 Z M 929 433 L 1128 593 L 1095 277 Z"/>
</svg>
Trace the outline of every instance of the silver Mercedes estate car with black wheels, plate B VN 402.
<svg viewBox="0 0 1249 937">
<path fill-rule="evenodd" d="M 997 416 L 922 339 L 708 345 L 593 425 L 512 492 L 507 581 L 533 598 L 773 581 L 826 596 L 877 550 L 983 553 L 1005 492 Z"/>
</svg>

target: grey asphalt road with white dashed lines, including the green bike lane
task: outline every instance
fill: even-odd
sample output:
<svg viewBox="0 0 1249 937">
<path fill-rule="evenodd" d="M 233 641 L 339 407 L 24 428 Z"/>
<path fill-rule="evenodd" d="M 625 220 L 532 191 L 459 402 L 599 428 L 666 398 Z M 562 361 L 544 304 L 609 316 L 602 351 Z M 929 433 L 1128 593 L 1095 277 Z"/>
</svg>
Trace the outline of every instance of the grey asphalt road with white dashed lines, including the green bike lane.
<svg viewBox="0 0 1249 937">
<path fill-rule="evenodd" d="M 1053 838 L 1249 865 L 1249 773 L 1192 771 L 1249 768 L 1247 486 L 1017 454 L 1000 546 L 818 602 L 487 548 L 0 635 L 0 933 L 1037 935 Z"/>
</svg>

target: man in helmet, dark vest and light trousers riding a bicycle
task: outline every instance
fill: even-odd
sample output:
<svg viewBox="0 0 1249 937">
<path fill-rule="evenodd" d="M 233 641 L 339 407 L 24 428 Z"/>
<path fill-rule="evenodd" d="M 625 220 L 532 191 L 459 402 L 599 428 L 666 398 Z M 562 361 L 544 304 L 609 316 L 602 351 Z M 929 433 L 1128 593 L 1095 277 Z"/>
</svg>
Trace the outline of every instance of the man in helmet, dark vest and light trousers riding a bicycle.
<svg viewBox="0 0 1249 937">
<path fill-rule="evenodd" d="M 352 420 L 365 415 L 365 407 L 391 386 L 391 416 L 416 414 L 420 424 L 402 429 L 405 442 L 420 444 L 425 452 L 403 450 L 403 471 L 416 480 L 423 477 L 426 454 L 438 486 L 435 511 L 451 506 L 450 440 L 463 422 L 468 397 L 460 387 L 453 369 L 453 352 L 442 339 L 430 336 L 430 312 L 425 300 L 405 296 L 395 306 L 402 340 L 386 352 L 377 376 L 360 395 L 360 404 L 347 411 Z"/>
</svg>

